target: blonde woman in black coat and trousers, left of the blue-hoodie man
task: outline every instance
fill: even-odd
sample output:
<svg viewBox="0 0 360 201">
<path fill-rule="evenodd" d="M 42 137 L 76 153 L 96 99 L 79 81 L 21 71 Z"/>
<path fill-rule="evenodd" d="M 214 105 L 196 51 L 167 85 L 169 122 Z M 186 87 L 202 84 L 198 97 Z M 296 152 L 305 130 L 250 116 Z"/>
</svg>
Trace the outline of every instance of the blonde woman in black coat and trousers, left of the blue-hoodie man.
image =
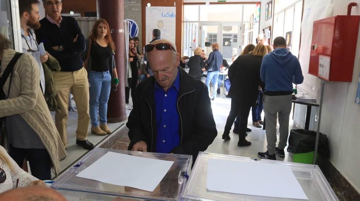
<svg viewBox="0 0 360 201">
<path fill-rule="evenodd" d="M 238 146 L 251 145 L 251 142 L 245 140 L 247 120 L 251 107 L 256 104 L 260 84 L 260 67 L 262 58 L 266 54 L 266 46 L 259 44 L 250 54 L 239 56 L 229 68 L 228 76 L 231 87 L 228 95 L 231 97 L 231 109 L 226 120 L 224 134 L 222 134 L 222 139 L 225 141 L 230 140 L 231 125 L 239 114 Z"/>
</svg>

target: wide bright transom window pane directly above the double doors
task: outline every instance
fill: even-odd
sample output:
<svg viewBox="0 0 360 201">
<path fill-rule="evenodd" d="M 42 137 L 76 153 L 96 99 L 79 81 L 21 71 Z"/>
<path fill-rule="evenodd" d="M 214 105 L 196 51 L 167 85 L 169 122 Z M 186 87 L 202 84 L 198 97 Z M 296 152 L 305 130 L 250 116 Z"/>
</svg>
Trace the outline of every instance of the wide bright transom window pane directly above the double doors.
<svg viewBox="0 0 360 201">
<path fill-rule="evenodd" d="M 241 17 L 241 4 L 200 5 L 200 21 L 241 21 Z"/>
</svg>

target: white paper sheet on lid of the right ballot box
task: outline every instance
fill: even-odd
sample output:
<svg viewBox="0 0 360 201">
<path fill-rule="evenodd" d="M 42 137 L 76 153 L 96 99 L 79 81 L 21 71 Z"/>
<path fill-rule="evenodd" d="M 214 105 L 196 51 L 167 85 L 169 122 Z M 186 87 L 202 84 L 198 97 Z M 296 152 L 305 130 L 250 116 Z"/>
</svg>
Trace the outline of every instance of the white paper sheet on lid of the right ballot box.
<svg viewBox="0 0 360 201">
<path fill-rule="evenodd" d="M 286 164 L 210 159 L 210 191 L 309 200 Z"/>
</svg>

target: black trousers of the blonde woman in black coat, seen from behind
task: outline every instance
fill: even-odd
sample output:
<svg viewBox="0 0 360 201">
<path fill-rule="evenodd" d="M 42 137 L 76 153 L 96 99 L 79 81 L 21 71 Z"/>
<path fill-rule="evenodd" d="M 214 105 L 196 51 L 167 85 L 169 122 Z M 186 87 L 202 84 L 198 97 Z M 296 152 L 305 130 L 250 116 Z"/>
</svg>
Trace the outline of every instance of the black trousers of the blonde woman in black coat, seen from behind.
<svg viewBox="0 0 360 201">
<path fill-rule="evenodd" d="M 224 135 L 228 135 L 230 133 L 231 126 L 234 123 L 234 120 L 237 115 L 240 116 L 239 118 L 239 141 L 245 141 L 246 137 L 246 128 L 247 128 L 247 120 L 249 117 L 251 106 L 247 106 L 246 104 L 242 104 L 238 100 L 231 99 L 231 109 L 226 120 Z"/>
</svg>

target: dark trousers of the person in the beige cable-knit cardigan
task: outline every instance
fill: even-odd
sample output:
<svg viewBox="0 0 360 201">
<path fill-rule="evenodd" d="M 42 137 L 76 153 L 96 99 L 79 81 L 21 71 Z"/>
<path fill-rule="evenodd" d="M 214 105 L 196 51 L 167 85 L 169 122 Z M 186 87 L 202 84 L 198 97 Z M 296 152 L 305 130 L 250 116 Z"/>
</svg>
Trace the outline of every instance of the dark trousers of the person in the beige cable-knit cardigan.
<svg viewBox="0 0 360 201">
<path fill-rule="evenodd" d="M 31 174 L 40 179 L 51 179 L 51 159 L 46 149 L 20 149 L 9 145 L 9 155 L 19 165 L 23 166 L 26 157 L 30 164 Z"/>
</svg>

